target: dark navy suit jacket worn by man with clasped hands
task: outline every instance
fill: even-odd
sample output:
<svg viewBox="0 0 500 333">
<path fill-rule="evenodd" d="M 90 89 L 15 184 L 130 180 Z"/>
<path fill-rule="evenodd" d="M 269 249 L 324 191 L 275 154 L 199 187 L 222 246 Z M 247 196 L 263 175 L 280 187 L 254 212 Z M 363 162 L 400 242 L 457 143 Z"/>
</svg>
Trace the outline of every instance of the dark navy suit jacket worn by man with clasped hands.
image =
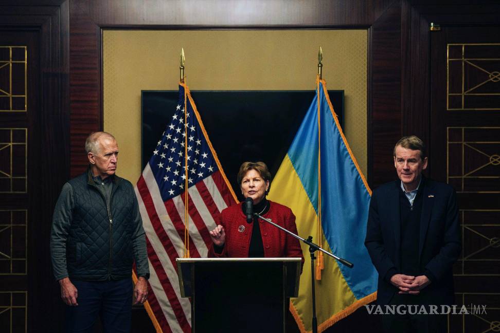
<svg viewBox="0 0 500 333">
<path fill-rule="evenodd" d="M 420 275 L 430 272 L 432 283 L 415 300 L 421 304 L 452 304 L 452 266 L 460 250 L 460 226 L 455 190 L 448 184 L 422 176 L 419 267 Z M 371 196 L 365 246 L 379 272 L 377 303 L 388 304 L 398 289 L 386 276 L 391 268 L 401 272 L 401 180 L 385 183 Z M 415 297 L 408 295 L 408 297 Z"/>
</svg>

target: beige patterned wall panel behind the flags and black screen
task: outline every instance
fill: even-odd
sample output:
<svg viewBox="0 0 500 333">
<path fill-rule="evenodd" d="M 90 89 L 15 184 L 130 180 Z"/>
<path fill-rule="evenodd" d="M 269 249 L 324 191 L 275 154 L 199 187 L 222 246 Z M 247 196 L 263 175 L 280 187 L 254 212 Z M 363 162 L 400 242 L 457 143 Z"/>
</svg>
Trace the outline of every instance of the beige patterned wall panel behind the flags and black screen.
<svg viewBox="0 0 500 333">
<path fill-rule="evenodd" d="M 313 91 L 319 46 L 327 88 L 345 91 L 346 137 L 366 173 L 367 45 L 366 30 L 105 30 L 104 130 L 117 138 L 119 174 L 135 182 L 142 172 L 140 91 L 178 88 L 181 47 L 191 90 Z"/>
</svg>

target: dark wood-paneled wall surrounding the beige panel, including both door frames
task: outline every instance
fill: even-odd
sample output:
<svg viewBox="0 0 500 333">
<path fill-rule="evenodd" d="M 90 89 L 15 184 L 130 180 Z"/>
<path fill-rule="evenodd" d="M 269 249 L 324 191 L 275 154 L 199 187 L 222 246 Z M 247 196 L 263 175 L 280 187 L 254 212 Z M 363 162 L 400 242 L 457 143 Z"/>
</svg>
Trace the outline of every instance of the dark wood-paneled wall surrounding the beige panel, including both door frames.
<svg viewBox="0 0 500 333">
<path fill-rule="evenodd" d="M 440 2 L 445 3 L 445 2 Z M 500 7 L 490 2 L 409 0 L 17 0 L 0 5 L 0 28 L 40 32 L 40 179 L 42 197 L 31 202 L 43 232 L 33 236 L 47 253 L 51 210 L 62 183 L 86 167 L 85 136 L 102 128 L 101 32 L 131 29 L 366 28 L 369 30 L 368 180 L 371 187 L 394 179 L 392 146 L 406 134 L 430 135 L 430 22 L 441 25 L 498 25 Z M 389 156 L 389 158 L 388 158 Z M 432 176 L 432 166 L 430 174 Z M 35 186 L 35 185 L 33 185 Z M 49 258 L 37 266 L 50 285 Z M 49 278 L 47 278 L 49 277 Z M 57 300 L 55 284 L 47 293 Z M 42 302 L 39 300 L 39 302 Z M 41 303 L 40 303 L 41 304 Z M 59 303 L 60 304 L 60 303 Z M 40 305 L 41 306 L 41 305 Z M 363 310 L 363 309 L 362 309 Z M 57 331 L 61 316 L 39 313 L 30 331 Z M 349 331 L 342 322 L 336 331 Z M 33 323 L 34 323 L 33 322 Z"/>
</svg>

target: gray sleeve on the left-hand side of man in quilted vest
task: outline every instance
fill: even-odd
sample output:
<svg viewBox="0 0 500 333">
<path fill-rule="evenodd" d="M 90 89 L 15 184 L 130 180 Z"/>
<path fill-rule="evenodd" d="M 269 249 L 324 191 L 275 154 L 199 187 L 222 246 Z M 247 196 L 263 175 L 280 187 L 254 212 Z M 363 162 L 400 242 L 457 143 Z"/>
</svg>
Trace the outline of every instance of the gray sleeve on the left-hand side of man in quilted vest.
<svg viewBox="0 0 500 333">
<path fill-rule="evenodd" d="M 73 218 L 73 205 L 73 188 L 69 183 L 65 183 L 57 200 L 54 214 L 52 215 L 52 231 L 50 233 L 50 254 L 56 280 L 61 280 L 68 276 L 66 241 L 69 226 Z"/>
</svg>

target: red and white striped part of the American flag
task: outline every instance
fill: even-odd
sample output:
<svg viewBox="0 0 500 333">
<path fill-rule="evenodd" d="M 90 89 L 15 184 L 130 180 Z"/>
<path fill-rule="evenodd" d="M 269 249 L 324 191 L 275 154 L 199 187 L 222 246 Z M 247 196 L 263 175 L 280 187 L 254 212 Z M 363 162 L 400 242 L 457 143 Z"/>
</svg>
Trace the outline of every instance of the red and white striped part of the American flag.
<svg viewBox="0 0 500 333">
<path fill-rule="evenodd" d="M 175 258 L 184 256 L 185 194 L 163 201 L 149 167 L 135 188 L 146 232 L 151 291 L 148 302 L 163 332 L 191 331 L 191 304 L 181 298 Z M 189 193 L 189 250 L 191 257 L 206 257 L 211 244 L 208 231 L 216 227 L 220 212 L 235 200 L 220 171 L 199 181 Z"/>
</svg>

